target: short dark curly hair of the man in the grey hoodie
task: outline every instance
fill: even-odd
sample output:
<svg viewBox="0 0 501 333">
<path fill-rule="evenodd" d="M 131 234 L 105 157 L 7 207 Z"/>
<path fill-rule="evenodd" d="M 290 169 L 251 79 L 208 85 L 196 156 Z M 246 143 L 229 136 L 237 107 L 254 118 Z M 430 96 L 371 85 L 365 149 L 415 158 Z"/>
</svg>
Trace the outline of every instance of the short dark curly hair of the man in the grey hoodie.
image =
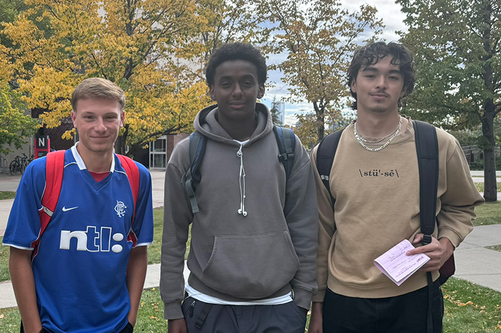
<svg viewBox="0 0 501 333">
<path fill-rule="evenodd" d="M 229 43 L 216 49 L 209 59 L 209 63 L 205 69 L 205 79 L 209 87 L 214 84 L 215 69 L 227 60 L 246 60 L 252 62 L 257 67 L 257 83 L 266 82 L 266 59 L 261 54 L 261 51 L 250 44 Z"/>
</svg>

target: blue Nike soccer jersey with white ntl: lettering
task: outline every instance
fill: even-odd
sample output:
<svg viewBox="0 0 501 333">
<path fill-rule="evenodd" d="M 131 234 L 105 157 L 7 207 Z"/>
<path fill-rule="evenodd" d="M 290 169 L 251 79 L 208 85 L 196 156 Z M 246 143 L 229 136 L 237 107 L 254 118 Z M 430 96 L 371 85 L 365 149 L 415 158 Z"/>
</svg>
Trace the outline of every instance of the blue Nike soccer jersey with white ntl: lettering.
<svg viewBox="0 0 501 333">
<path fill-rule="evenodd" d="M 119 332 L 128 323 L 126 269 L 130 250 L 153 240 L 151 176 L 139 167 L 134 198 L 124 168 L 114 156 L 110 173 L 97 183 L 76 146 L 65 153 L 58 205 L 40 238 L 32 267 L 43 328 L 59 332 Z M 25 171 L 3 244 L 33 250 L 40 235 L 45 158 Z"/>
</svg>

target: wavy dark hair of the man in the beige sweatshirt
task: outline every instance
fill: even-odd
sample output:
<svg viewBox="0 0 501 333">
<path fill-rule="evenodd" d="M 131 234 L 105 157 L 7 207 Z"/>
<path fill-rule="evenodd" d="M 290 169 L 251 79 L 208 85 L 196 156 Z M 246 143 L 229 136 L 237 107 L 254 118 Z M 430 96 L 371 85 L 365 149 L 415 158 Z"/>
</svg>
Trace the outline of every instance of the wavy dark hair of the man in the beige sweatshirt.
<svg viewBox="0 0 501 333">
<path fill-rule="evenodd" d="M 399 65 L 400 71 L 404 76 L 404 96 L 406 97 L 414 89 L 416 80 L 416 71 L 414 69 L 414 60 L 410 50 L 399 43 L 391 42 L 376 42 L 356 49 L 353 54 L 353 59 L 348 68 L 348 87 L 350 88 L 351 95 L 355 98 L 352 108 L 357 108 L 357 94 L 351 91 L 351 83 L 356 80 L 358 72 L 362 67 L 367 67 L 378 62 L 380 59 L 392 56 L 391 64 Z M 398 106 L 401 106 L 401 99 L 398 100 Z"/>
</svg>

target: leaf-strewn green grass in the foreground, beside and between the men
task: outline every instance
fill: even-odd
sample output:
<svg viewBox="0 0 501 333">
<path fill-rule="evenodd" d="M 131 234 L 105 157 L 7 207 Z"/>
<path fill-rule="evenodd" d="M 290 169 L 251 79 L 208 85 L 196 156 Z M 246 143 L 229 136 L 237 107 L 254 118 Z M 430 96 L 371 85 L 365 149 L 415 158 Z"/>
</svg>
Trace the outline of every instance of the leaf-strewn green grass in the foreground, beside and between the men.
<svg viewBox="0 0 501 333">
<path fill-rule="evenodd" d="M 499 332 L 501 330 L 501 292 L 452 277 L 443 286 L 444 333 Z M 0 309 L 0 332 L 19 332 L 16 308 Z M 163 303 L 156 288 L 145 290 L 134 332 L 167 332 Z"/>
</svg>

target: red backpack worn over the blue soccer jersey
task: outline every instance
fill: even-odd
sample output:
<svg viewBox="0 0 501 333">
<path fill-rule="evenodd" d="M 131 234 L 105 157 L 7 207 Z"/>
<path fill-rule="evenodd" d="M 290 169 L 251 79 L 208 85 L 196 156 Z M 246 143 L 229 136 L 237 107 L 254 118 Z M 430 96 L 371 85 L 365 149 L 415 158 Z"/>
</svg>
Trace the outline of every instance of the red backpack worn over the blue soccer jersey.
<svg viewBox="0 0 501 333">
<path fill-rule="evenodd" d="M 65 170 L 65 152 L 66 150 L 56 150 L 47 154 L 47 160 L 45 161 L 45 190 L 42 196 L 42 209 L 39 211 L 40 235 L 32 244 L 32 247 L 34 247 L 32 260 L 38 253 L 40 238 L 42 238 L 43 232 L 47 229 L 47 225 L 49 225 L 54 215 L 56 205 L 58 205 L 62 186 L 62 174 Z M 137 168 L 136 163 L 129 157 L 119 154 L 117 154 L 117 157 L 120 159 L 121 166 L 126 171 L 132 196 L 134 197 L 134 210 L 132 213 L 132 223 L 134 223 L 137 197 L 139 196 L 139 168 Z"/>
</svg>

